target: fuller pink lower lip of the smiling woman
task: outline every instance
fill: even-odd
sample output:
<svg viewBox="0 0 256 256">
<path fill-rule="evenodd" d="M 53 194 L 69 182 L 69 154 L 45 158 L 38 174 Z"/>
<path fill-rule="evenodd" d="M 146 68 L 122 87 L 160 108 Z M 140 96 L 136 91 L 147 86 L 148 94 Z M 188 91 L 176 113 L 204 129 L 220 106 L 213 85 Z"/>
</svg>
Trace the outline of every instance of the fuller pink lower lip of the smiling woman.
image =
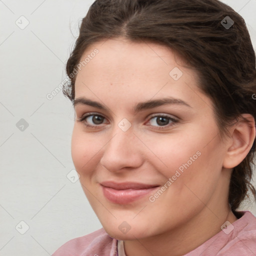
<svg viewBox="0 0 256 256">
<path fill-rule="evenodd" d="M 102 186 L 104 196 L 111 202 L 126 204 L 138 200 L 139 198 L 147 195 L 153 190 L 157 189 L 156 187 L 144 188 L 144 189 L 113 189 L 111 187 Z"/>
</svg>

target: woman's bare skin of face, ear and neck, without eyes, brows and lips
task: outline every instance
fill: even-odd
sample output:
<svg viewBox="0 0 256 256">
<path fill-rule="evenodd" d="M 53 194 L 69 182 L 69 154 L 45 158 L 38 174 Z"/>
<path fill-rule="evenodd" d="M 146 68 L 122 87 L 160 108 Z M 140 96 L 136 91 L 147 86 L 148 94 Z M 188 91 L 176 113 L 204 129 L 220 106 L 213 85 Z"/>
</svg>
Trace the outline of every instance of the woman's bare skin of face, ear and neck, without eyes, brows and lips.
<svg viewBox="0 0 256 256">
<path fill-rule="evenodd" d="M 246 156 L 255 137 L 251 126 L 239 121 L 222 139 L 212 102 L 198 88 L 197 74 L 182 65 L 177 54 L 157 43 L 108 39 L 86 49 L 98 54 L 78 71 L 75 99 L 86 97 L 106 109 L 77 103 L 71 153 L 80 183 L 106 232 L 124 240 L 127 256 L 181 255 L 236 220 L 228 206 L 232 167 Z M 183 75 L 174 80 L 169 72 Z M 163 104 L 134 112 L 138 102 L 173 97 L 184 104 Z M 102 116 L 101 124 L 91 117 Z M 168 115 L 161 126 L 156 117 Z M 118 123 L 126 118 L 127 131 Z M 158 118 L 159 119 L 159 118 Z M 96 125 L 90 127 L 88 125 Z M 116 204 L 103 195 L 100 182 L 166 183 L 196 152 L 200 156 L 154 201 L 146 195 L 132 203 Z M 118 226 L 126 221 L 130 230 Z"/>
</svg>

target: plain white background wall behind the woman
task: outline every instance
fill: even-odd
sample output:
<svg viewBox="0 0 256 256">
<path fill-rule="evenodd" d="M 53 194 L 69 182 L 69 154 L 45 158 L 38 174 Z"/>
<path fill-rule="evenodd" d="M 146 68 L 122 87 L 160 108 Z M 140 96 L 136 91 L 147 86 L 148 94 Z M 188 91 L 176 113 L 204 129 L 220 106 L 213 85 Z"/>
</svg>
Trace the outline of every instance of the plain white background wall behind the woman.
<svg viewBox="0 0 256 256">
<path fill-rule="evenodd" d="M 51 255 L 101 227 L 73 164 L 73 109 L 59 92 L 78 24 L 93 0 L 0 0 L 0 255 Z M 225 0 L 246 21 L 256 49 L 256 0 Z M 19 18 L 21 15 L 25 17 Z M 20 19 L 22 19 L 20 21 Z M 20 29 L 26 20 L 29 24 Z M 22 22 L 22 24 L 21 24 Z M 16 123 L 25 119 L 20 131 Z M 255 184 L 255 183 L 254 183 Z M 256 215 L 255 204 L 247 204 Z M 22 235 L 16 229 L 25 231 Z"/>
</svg>

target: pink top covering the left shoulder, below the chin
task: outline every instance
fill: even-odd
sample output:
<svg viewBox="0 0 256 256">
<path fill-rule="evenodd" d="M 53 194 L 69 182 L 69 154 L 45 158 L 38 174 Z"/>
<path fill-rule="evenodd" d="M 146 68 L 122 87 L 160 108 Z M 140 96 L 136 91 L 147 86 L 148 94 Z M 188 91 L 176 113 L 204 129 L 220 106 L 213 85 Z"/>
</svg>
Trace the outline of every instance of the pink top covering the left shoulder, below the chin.
<svg viewBox="0 0 256 256">
<path fill-rule="evenodd" d="M 52 256 L 116 256 L 116 250 L 117 240 L 100 228 L 67 241 Z"/>
</svg>

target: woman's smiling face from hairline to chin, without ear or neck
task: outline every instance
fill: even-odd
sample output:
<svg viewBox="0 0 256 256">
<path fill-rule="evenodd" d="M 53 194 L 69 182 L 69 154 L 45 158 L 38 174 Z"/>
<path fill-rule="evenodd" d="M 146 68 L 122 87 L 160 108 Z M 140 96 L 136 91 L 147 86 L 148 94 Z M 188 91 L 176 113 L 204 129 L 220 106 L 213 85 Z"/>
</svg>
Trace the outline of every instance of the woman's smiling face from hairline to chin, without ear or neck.
<svg viewBox="0 0 256 256">
<path fill-rule="evenodd" d="M 86 57 L 71 152 L 102 226 L 124 240 L 185 224 L 219 196 L 226 150 L 196 73 L 152 42 L 108 39 Z"/>
</svg>

